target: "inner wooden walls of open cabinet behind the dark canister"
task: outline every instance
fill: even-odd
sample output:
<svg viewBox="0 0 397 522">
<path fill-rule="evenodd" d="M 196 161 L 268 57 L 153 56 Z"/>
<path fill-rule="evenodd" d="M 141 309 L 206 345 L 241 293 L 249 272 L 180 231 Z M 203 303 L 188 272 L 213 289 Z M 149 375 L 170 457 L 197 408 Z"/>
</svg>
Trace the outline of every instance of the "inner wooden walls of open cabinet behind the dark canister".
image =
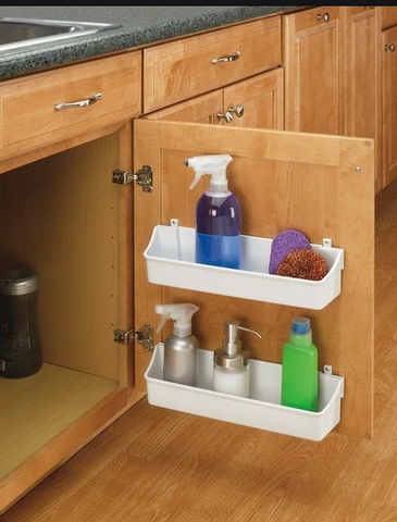
<svg viewBox="0 0 397 522">
<path fill-rule="evenodd" d="M 39 279 L 47 362 L 120 378 L 117 134 L 0 176 L 0 252 Z M 124 291 L 124 290 L 123 290 Z M 132 313 L 132 311 L 131 311 Z"/>
</svg>

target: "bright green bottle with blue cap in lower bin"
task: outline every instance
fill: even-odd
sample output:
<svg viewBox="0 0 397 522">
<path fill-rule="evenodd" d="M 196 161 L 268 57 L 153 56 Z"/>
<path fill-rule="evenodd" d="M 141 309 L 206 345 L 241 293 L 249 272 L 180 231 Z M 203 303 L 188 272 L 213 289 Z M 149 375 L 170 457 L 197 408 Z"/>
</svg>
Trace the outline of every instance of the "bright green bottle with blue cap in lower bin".
<svg viewBox="0 0 397 522">
<path fill-rule="evenodd" d="M 294 318 L 289 341 L 283 346 L 282 405 L 319 411 L 318 349 L 310 319 Z"/>
</svg>

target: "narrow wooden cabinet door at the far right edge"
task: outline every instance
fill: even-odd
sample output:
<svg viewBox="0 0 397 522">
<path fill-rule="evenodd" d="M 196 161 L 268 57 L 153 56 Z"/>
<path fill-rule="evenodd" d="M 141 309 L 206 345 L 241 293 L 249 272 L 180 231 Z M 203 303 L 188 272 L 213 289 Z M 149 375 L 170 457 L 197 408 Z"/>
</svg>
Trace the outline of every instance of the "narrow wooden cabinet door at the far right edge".
<svg viewBox="0 0 397 522">
<path fill-rule="evenodd" d="M 394 47 L 393 47 L 394 46 Z M 383 176 L 397 177 L 397 27 L 383 33 Z"/>
</svg>

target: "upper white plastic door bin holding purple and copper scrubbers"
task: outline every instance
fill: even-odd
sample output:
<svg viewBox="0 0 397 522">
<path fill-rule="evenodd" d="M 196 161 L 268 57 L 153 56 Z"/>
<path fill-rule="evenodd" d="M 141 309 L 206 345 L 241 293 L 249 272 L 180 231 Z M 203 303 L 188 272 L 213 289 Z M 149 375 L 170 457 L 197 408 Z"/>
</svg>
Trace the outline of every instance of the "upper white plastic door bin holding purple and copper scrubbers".
<svg viewBox="0 0 397 522">
<path fill-rule="evenodd" d="M 241 236 L 241 270 L 195 263 L 195 229 L 158 225 L 146 259 L 149 283 L 321 310 L 340 294 L 344 250 L 312 245 L 328 263 L 322 281 L 269 274 L 272 239 Z"/>
</svg>

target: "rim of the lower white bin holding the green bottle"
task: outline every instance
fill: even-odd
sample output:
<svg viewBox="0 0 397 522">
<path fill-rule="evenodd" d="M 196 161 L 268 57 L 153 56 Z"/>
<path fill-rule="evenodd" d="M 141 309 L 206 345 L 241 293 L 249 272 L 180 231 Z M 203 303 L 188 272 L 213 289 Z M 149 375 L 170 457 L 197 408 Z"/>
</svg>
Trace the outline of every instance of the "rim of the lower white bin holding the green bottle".
<svg viewBox="0 0 397 522">
<path fill-rule="evenodd" d="M 145 378 L 147 382 L 149 383 L 153 383 L 156 385 L 160 385 L 160 386 L 164 386 L 166 388 L 174 388 L 174 389 L 182 389 L 182 390 L 186 390 L 186 391 L 194 391 L 194 393 L 197 393 L 197 394 L 202 394 L 202 395 L 207 395 L 207 396 L 213 396 L 213 395 L 216 395 L 222 397 L 223 399 L 227 399 L 232 402 L 241 402 L 241 403 L 246 403 L 246 405 L 252 405 L 252 403 L 256 403 L 256 405 L 260 405 L 260 406 L 263 406 L 265 405 L 266 408 L 270 408 L 270 409 L 274 409 L 274 410 L 283 410 L 283 411 L 288 411 L 290 413 L 299 413 L 300 415 L 303 414 L 305 417 L 311 417 L 311 418 L 321 418 L 323 417 L 327 410 L 330 408 L 332 408 L 332 405 L 333 402 L 337 399 L 337 397 L 342 397 L 342 386 L 343 386 L 343 377 L 338 377 L 338 376 L 333 376 L 333 375 L 325 375 L 323 374 L 322 372 L 319 372 L 322 376 L 324 376 L 325 378 L 334 378 L 336 381 L 338 381 L 336 387 L 335 387 L 335 390 L 334 393 L 332 394 L 330 400 L 327 401 L 326 406 L 321 410 L 321 411 L 308 411 L 308 410 L 300 410 L 298 408 L 290 408 L 288 406 L 283 406 L 283 405 L 275 405 L 273 402 L 266 402 L 266 401 L 263 401 L 263 400 L 258 400 L 258 399 L 251 399 L 251 398 L 245 398 L 245 397 L 237 397 L 235 395 L 228 395 L 228 394 L 222 394 L 221 391 L 214 391 L 212 389 L 204 389 L 204 388 L 200 388 L 200 387 L 197 387 L 197 386 L 188 386 L 186 384 L 177 384 L 177 383 L 172 383 L 171 381 L 164 381 L 162 378 L 157 378 L 157 377 L 151 377 L 150 376 L 150 371 L 152 369 L 152 365 L 154 364 L 154 360 L 157 357 L 159 357 L 159 351 L 160 351 L 160 347 L 162 347 L 163 344 L 162 343 L 159 343 L 156 348 L 154 348 L 154 351 L 153 351 L 153 355 L 152 355 L 152 358 L 151 358 L 151 361 L 150 361 L 150 364 L 147 369 L 147 371 L 145 372 Z M 206 350 L 203 350 L 206 351 Z M 261 360 L 257 360 L 257 359 L 251 359 L 251 361 L 258 361 L 258 362 L 263 362 L 265 364 L 274 364 L 274 365 L 278 365 L 277 363 L 273 363 L 273 362 L 268 362 L 268 361 L 261 361 Z"/>
</svg>

